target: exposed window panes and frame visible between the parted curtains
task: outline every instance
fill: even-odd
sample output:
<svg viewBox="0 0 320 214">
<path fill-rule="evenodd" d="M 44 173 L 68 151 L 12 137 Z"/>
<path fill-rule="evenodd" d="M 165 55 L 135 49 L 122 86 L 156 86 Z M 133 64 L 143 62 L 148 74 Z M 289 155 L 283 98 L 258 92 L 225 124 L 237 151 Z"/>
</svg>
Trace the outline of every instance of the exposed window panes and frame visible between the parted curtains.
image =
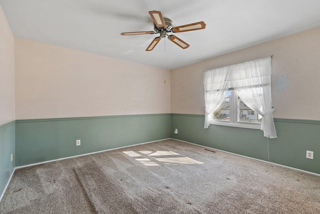
<svg viewBox="0 0 320 214">
<path fill-rule="evenodd" d="M 228 90 L 220 107 L 213 112 L 211 124 L 260 129 L 261 116 L 250 109 L 234 90 Z"/>
</svg>

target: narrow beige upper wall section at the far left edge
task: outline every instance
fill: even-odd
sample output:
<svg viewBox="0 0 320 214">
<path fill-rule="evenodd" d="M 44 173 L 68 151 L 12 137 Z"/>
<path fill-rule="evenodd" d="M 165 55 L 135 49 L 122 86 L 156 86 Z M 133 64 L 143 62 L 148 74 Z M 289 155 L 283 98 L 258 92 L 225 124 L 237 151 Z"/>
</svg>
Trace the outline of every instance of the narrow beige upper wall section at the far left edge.
<svg viewBox="0 0 320 214">
<path fill-rule="evenodd" d="M 0 125 L 14 119 L 14 38 L 0 6 Z"/>
</svg>

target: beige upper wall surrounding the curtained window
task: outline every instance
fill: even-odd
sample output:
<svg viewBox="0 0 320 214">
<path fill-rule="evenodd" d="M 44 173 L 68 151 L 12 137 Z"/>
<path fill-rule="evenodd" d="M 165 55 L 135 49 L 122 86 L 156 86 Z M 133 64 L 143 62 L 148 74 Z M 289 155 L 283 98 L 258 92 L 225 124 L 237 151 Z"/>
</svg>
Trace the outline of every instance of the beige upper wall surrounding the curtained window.
<svg viewBox="0 0 320 214">
<path fill-rule="evenodd" d="M 203 70 L 272 58 L 275 118 L 320 120 L 320 28 L 283 37 L 171 71 L 171 113 L 204 114 Z M 287 75 L 287 91 L 276 90 Z"/>
</svg>

